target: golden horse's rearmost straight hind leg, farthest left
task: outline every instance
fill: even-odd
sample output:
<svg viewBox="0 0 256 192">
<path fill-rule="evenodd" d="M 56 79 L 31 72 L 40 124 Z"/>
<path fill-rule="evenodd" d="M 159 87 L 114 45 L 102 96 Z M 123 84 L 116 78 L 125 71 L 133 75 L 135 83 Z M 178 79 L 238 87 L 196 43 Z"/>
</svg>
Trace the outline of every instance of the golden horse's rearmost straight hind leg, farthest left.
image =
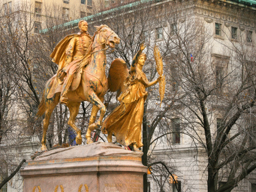
<svg viewBox="0 0 256 192">
<path fill-rule="evenodd" d="M 41 150 L 42 151 L 46 151 L 47 147 L 46 147 L 46 133 L 47 133 L 47 129 L 49 126 L 49 121 L 50 121 L 50 117 L 51 117 L 51 113 L 52 111 L 54 111 L 54 108 L 56 107 L 56 105 L 59 102 L 59 95 L 55 95 L 52 100 L 47 100 L 46 101 L 46 116 L 43 119 L 43 136 L 42 136 L 42 147 Z"/>
</svg>

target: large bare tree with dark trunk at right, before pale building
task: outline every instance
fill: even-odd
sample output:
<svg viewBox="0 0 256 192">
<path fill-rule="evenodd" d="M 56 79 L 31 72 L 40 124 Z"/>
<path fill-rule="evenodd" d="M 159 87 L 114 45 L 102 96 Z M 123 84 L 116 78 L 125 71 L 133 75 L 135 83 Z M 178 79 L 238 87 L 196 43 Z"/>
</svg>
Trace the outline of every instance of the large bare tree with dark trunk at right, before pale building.
<svg viewBox="0 0 256 192">
<path fill-rule="evenodd" d="M 164 18 L 173 30 L 163 44 L 170 51 L 171 88 L 184 96 L 170 117 L 180 118 L 180 133 L 205 149 L 208 191 L 231 191 L 256 168 L 255 50 L 246 34 L 234 42 L 229 33 L 221 52 L 213 52 L 213 31 L 189 13 L 183 12 L 186 18 L 176 17 L 177 12 Z"/>
</svg>

